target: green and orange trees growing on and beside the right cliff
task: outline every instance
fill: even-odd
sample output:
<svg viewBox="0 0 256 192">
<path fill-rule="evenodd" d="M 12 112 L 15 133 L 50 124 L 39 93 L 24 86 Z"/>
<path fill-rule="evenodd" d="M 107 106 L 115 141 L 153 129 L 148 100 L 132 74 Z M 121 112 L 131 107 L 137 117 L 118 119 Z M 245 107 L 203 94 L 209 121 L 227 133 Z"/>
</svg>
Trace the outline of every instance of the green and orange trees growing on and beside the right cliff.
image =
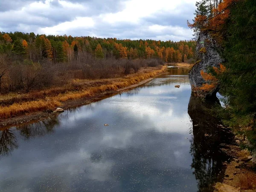
<svg viewBox="0 0 256 192">
<path fill-rule="evenodd" d="M 188 26 L 197 37 L 208 32 L 224 58 L 220 68 L 204 73 L 203 89 L 219 86 L 226 108 L 219 115 L 236 133 L 245 134 L 252 151 L 256 146 L 256 1 L 202 0 Z M 202 50 L 207 51 L 207 50 Z"/>
</svg>

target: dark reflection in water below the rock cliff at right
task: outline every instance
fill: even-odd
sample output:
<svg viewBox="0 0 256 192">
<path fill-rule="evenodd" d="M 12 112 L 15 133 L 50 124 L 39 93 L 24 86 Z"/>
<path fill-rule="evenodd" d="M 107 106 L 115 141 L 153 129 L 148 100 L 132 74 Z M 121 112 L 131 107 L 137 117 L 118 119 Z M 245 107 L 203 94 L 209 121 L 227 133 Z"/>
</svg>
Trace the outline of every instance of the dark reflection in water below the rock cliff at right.
<svg viewBox="0 0 256 192">
<path fill-rule="evenodd" d="M 190 97 L 188 113 L 192 119 L 193 136 L 190 153 L 193 156 L 191 167 L 198 181 L 199 192 L 212 192 L 212 185 L 223 178 L 221 172 L 223 161 L 228 157 L 220 150 L 221 143 L 229 143 L 232 138 L 227 128 L 212 114 L 218 99 L 203 102 Z M 221 173 L 220 173 L 221 172 Z M 219 175 L 219 177 L 218 177 Z"/>
</svg>

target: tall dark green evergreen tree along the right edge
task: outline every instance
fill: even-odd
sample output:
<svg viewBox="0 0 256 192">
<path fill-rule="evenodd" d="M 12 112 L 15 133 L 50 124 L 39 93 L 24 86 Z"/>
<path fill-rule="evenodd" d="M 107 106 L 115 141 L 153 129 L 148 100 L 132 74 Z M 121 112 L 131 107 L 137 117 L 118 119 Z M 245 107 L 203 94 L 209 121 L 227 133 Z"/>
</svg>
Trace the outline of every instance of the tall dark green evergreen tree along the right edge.
<svg viewBox="0 0 256 192">
<path fill-rule="evenodd" d="M 228 98 L 231 125 L 256 127 L 256 1 L 239 1 L 229 23 L 221 92 Z"/>
</svg>

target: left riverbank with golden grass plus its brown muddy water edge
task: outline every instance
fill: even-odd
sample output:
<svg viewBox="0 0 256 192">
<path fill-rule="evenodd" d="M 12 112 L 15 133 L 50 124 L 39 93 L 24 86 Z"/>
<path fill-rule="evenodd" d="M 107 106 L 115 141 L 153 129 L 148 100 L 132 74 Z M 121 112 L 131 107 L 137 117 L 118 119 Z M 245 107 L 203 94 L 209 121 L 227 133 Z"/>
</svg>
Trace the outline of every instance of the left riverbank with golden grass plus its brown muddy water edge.
<svg viewBox="0 0 256 192">
<path fill-rule="evenodd" d="M 115 79 L 73 80 L 64 87 L 54 87 L 26 94 L 1 96 L 0 127 L 17 125 L 49 116 L 55 108 L 75 108 L 101 99 L 106 94 L 139 86 L 163 73 L 166 66 L 144 67 L 137 73 Z"/>
</svg>

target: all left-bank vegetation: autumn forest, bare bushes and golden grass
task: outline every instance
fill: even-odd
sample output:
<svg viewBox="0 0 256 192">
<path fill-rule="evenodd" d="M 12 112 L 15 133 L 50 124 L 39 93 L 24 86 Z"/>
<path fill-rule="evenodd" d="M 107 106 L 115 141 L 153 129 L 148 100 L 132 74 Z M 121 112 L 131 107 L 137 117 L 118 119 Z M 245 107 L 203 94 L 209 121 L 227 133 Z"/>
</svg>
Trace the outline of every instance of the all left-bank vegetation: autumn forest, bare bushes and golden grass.
<svg viewBox="0 0 256 192">
<path fill-rule="evenodd" d="M 192 40 L 0 32 L 0 118 L 51 111 L 70 100 L 86 104 L 156 76 L 165 62 L 192 62 L 194 52 Z"/>
</svg>

